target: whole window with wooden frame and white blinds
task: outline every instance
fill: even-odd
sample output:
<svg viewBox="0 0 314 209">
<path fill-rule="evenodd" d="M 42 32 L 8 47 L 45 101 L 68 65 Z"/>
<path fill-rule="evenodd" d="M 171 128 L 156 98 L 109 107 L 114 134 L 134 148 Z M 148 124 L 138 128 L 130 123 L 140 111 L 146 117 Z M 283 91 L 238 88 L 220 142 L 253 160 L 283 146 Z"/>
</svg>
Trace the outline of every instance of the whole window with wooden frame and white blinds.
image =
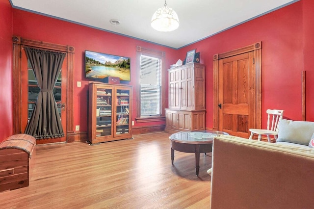
<svg viewBox="0 0 314 209">
<path fill-rule="evenodd" d="M 137 78 L 136 121 L 164 121 L 164 104 L 166 99 L 162 85 L 165 53 L 137 47 Z"/>
</svg>

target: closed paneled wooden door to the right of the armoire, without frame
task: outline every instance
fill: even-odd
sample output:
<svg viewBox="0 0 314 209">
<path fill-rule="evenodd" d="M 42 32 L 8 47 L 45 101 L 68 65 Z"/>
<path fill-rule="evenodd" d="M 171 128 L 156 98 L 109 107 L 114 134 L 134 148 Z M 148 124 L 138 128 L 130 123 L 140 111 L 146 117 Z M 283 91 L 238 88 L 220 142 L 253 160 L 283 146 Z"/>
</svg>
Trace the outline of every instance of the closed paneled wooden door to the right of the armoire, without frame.
<svg viewBox="0 0 314 209">
<path fill-rule="evenodd" d="M 253 57 L 253 52 L 247 52 L 221 59 L 218 70 L 219 130 L 245 138 L 249 137 L 249 128 L 254 127 L 254 95 L 250 94 Z"/>
</svg>

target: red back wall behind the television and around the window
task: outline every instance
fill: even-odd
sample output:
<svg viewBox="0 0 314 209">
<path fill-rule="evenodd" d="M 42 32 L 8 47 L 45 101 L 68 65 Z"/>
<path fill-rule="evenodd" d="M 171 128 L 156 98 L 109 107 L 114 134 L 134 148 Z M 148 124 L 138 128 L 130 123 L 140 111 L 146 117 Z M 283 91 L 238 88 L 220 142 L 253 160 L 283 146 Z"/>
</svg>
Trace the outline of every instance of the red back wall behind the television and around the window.
<svg viewBox="0 0 314 209">
<path fill-rule="evenodd" d="M 74 126 L 79 125 L 81 132 L 88 131 L 87 90 L 88 82 L 90 80 L 86 79 L 84 75 L 85 50 L 131 57 L 131 82 L 126 82 L 125 84 L 133 86 L 133 121 L 135 121 L 134 118 L 136 110 L 136 46 L 164 51 L 166 53 L 165 66 L 170 66 L 176 62 L 173 58 L 176 53 L 176 50 L 174 49 L 106 31 L 80 26 L 18 9 L 13 9 L 13 20 L 14 35 L 32 40 L 70 45 L 75 48 Z M 166 76 L 168 75 L 167 69 L 164 69 L 164 74 Z M 163 80 L 164 86 L 168 85 L 168 76 L 166 78 L 167 79 Z M 82 87 L 77 87 L 77 81 L 81 81 Z M 168 95 L 168 88 L 166 88 L 166 92 L 164 92 L 164 94 Z M 135 122 L 134 126 L 157 124 L 164 124 L 164 122 L 152 122 L 148 124 L 136 124 Z M 73 128 L 73 130 L 75 130 L 75 128 Z"/>
</svg>

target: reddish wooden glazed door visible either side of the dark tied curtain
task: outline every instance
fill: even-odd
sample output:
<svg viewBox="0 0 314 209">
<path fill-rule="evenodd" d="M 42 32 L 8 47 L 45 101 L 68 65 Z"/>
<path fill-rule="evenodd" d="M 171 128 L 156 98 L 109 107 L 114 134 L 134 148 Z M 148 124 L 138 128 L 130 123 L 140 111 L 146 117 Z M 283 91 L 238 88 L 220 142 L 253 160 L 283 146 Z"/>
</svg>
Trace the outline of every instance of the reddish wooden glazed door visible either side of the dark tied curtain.
<svg viewBox="0 0 314 209">
<path fill-rule="evenodd" d="M 39 87 L 37 85 L 36 78 L 33 73 L 31 65 L 28 63 L 26 52 L 22 48 L 21 57 L 21 86 L 22 86 L 22 121 L 21 121 L 21 132 L 24 133 L 30 115 L 33 111 L 34 104 L 37 100 L 37 93 Z M 61 117 L 61 124 L 64 132 L 64 137 L 61 138 L 50 138 L 50 139 L 39 139 L 36 140 L 36 144 L 46 144 L 55 142 L 66 142 L 67 141 L 67 59 L 65 58 L 61 67 L 60 75 L 53 88 L 53 95 L 57 104 L 59 114 Z"/>
</svg>

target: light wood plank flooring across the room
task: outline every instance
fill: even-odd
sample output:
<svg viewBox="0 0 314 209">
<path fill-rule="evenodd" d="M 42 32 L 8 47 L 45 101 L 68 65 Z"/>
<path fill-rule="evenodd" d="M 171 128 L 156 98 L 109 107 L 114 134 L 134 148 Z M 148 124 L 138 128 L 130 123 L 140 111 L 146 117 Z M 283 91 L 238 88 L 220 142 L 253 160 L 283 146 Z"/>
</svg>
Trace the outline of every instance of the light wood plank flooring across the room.
<svg viewBox="0 0 314 209">
<path fill-rule="evenodd" d="M 211 154 L 175 151 L 168 133 L 88 145 L 36 146 L 28 187 L 0 193 L 0 209 L 209 209 Z"/>
</svg>

